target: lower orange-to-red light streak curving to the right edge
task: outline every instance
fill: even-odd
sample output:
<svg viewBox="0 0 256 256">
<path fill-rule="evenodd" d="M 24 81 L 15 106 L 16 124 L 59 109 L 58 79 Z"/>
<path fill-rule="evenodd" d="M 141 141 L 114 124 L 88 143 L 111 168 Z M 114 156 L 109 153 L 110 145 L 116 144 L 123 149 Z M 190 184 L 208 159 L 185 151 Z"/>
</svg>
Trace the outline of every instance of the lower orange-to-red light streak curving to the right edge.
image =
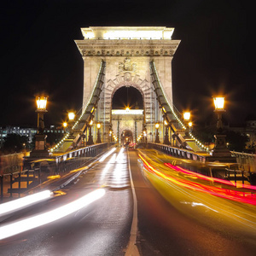
<svg viewBox="0 0 256 256">
<path fill-rule="evenodd" d="M 203 193 L 207 193 L 210 195 L 215 195 L 218 197 L 222 197 L 225 199 L 229 199 L 232 201 L 239 201 L 247 204 L 251 204 L 256 206 L 256 195 L 252 194 L 252 191 L 238 191 L 238 190 L 232 190 L 232 189 L 222 189 L 202 183 L 195 183 L 186 179 L 183 179 L 182 177 L 174 177 L 169 174 L 160 172 L 159 170 L 156 170 L 153 166 L 151 166 L 147 160 L 143 158 L 141 154 L 139 154 L 139 157 L 141 160 L 143 160 L 143 164 L 145 168 L 147 168 L 148 172 L 152 172 L 160 177 L 163 177 L 165 180 L 168 180 L 172 183 L 175 183 L 179 186 L 182 186 L 186 189 L 194 189 Z M 171 165 L 172 166 L 172 165 Z M 169 167 L 171 167 L 169 166 Z M 176 167 L 176 166 L 174 166 Z M 173 169 L 175 170 L 175 169 Z"/>
</svg>

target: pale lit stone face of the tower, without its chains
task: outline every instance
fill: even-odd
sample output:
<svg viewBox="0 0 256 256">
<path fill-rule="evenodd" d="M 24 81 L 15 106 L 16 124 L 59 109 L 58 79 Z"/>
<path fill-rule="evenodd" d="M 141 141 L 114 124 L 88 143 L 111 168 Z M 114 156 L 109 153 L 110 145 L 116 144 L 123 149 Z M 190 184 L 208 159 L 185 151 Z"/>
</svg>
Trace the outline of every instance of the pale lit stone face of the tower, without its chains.
<svg viewBox="0 0 256 256">
<path fill-rule="evenodd" d="M 154 61 L 160 81 L 172 103 L 172 58 L 179 40 L 172 40 L 173 28 L 165 26 L 82 28 L 84 40 L 75 41 L 84 60 L 83 107 L 89 100 L 101 61 L 106 62 L 105 80 L 97 119 L 108 134 L 112 123 L 112 98 L 122 86 L 133 86 L 143 96 L 144 122 L 148 132 L 162 119 L 156 100 L 149 62 Z M 142 130 L 143 127 L 138 127 Z M 117 134 L 117 131 L 113 131 Z M 103 138 L 104 139 L 104 138 Z"/>
</svg>

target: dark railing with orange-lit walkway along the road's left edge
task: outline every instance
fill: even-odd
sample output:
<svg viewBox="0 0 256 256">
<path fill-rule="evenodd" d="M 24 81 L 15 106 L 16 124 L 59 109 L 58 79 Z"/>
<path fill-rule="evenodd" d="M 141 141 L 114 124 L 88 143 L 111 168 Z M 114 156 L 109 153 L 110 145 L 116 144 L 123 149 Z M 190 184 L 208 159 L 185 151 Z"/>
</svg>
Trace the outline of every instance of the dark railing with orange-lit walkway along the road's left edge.
<svg viewBox="0 0 256 256">
<path fill-rule="evenodd" d="M 38 185 L 59 179 L 75 169 L 88 165 L 91 161 L 112 146 L 113 143 L 100 143 L 85 148 L 77 148 L 64 154 L 51 155 L 45 159 L 24 160 L 23 170 L 5 172 L 0 175 L 0 199 L 26 195 Z"/>
</svg>

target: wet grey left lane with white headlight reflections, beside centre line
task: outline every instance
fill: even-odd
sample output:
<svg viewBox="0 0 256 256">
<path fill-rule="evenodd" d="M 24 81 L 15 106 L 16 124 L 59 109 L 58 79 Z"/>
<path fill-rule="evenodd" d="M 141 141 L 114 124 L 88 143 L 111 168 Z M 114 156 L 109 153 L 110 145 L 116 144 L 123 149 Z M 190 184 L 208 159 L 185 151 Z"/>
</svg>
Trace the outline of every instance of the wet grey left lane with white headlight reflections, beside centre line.
<svg viewBox="0 0 256 256">
<path fill-rule="evenodd" d="M 105 184 L 107 193 L 102 199 L 54 224 L 0 241 L 1 254 L 123 255 L 130 236 L 132 201 L 130 181 L 127 180 L 129 174 L 125 175 L 125 167 L 122 167 L 123 176 L 120 177 L 117 169 L 122 166 L 122 161 L 116 162 L 116 157 L 112 162 L 106 160 L 80 175 L 73 185 L 66 187 L 67 195 L 56 197 L 53 205 L 61 205 L 60 201 L 65 198 L 70 201 Z M 127 169 L 126 162 L 125 165 Z"/>
</svg>

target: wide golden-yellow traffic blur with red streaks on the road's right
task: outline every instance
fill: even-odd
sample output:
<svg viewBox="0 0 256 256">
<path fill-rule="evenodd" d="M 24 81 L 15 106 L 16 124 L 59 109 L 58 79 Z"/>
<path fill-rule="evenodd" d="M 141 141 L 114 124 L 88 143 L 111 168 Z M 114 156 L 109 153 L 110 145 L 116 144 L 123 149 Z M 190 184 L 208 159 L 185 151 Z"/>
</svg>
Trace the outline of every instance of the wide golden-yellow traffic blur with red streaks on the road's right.
<svg viewBox="0 0 256 256">
<path fill-rule="evenodd" d="M 196 218 L 212 229 L 223 230 L 224 233 L 229 230 L 232 236 L 239 236 L 247 244 L 252 243 L 252 237 L 256 238 L 253 187 L 236 188 L 229 181 L 213 181 L 214 178 L 189 172 L 185 168 L 166 166 L 159 158 L 152 160 L 148 151 L 147 155 L 140 151 L 140 158 L 145 164 L 143 175 L 179 212 Z M 256 247 L 256 242 L 253 247 Z"/>
</svg>

